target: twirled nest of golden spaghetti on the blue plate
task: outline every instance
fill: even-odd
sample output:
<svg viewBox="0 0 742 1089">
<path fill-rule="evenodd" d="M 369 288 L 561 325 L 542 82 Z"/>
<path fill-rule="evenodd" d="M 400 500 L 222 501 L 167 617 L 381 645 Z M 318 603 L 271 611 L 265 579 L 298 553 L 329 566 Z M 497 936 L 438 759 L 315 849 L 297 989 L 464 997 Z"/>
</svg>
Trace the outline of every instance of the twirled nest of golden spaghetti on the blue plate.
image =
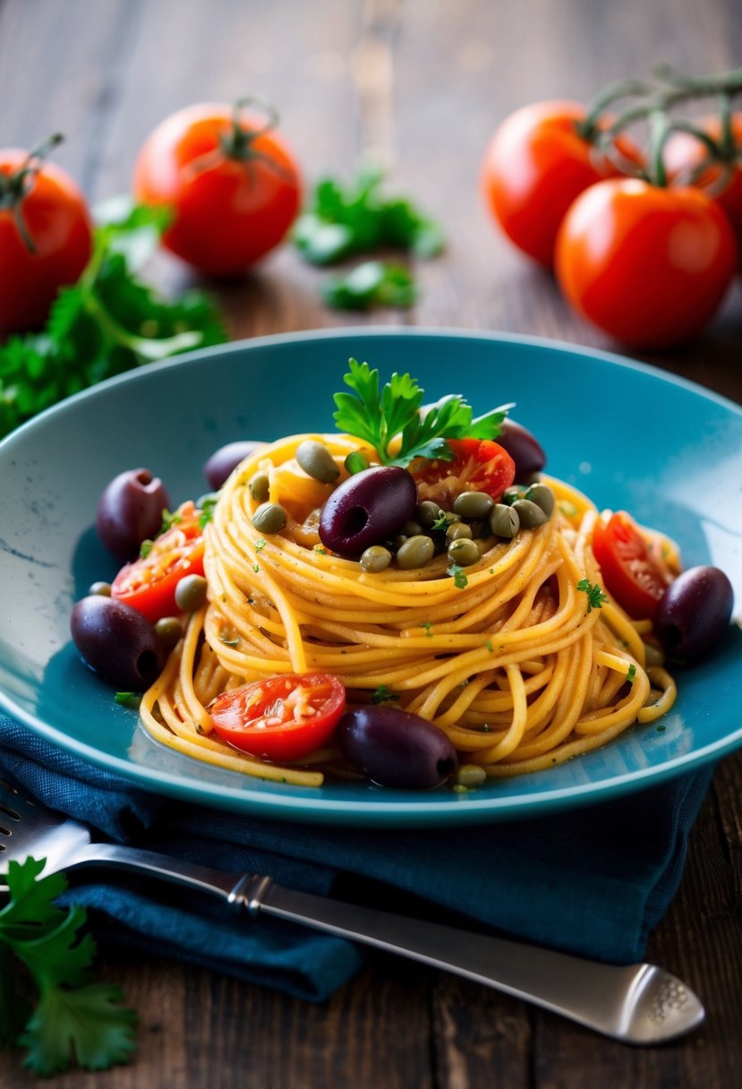
<svg viewBox="0 0 742 1089">
<path fill-rule="evenodd" d="M 512 540 L 484 537 L 463 577 L 452 577 L 445 553 L 368 573 L 320 542 L 318 509 L 332 486 L 297 469 L 307 438 L 257 451 L 222 488 L 205 531 L 208 602 L 141 702 L 157 741 L 249 775 L 319 785 L 347 770 L 332 747 L 277 766 L 223 742 L 209 712 L 246 682 L 317 672 L 343 682 L 350 707 L 382 692 L 442 730 L 462 763 L 497 778 L 559 764 L 672 706 L 671 677 L 656 654 L 647 660 L 651 623 L 588 592 L 601 580 L 599 514 L 582 493 L 542 476 L 556 500 L 548 521 Z M 338 466 L 359 446 L 312 438 Z M 252 524 L 259 474 L 287 511 L 281 533 Z"/>
</svg>

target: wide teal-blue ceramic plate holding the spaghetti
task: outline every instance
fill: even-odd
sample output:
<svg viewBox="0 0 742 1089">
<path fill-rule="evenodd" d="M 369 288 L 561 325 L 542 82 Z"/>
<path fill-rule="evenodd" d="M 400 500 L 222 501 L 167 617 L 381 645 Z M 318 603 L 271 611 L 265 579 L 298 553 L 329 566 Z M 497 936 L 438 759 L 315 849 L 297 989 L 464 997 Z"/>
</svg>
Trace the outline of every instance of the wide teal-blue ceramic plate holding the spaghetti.
<svg viewBox="0 0 742 1089">
<path fill-rule="evenodd" d="M 114 703 L 69 639 L 76 598 L 113 574 L 92 522 L 124 468 L 146 465 L 172 501 L 200 494 L 209 454 L 238 438 L 332 430 L 349 356 L 382 377 L 410 371 L 426 400 L 461 393 L 475 413 L 516 402 L 548 470 L 598 506 L 626 507 L 679 541 L 687 566 L 714 563 L 742 603 L 742 409 L 616 356 L 515 337 L 342 330 L 253 340 L 106 382 L 0 444 L 0 702 L 85 760 L 226 809 L 357 824 L 444 824 L 543 815 L 618 797 L 742 743 L 742 633 L 679 676 L 675 709 L 604 749 L 465 795 L 357 784 L 297 788 L 161 748 Z"/>
</svg>

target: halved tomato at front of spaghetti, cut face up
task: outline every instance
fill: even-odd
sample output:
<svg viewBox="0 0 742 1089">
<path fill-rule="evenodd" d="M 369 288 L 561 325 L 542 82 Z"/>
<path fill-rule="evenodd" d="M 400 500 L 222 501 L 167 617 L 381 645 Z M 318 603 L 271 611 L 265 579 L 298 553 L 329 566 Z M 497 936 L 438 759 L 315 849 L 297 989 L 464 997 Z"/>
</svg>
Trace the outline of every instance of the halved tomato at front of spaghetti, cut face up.
<svg viewBox="0 0 742 1089">
<path fill-rule="evenodd" d="M 330 739 L 345 686 L 330 673 L 284 673 L 218 696 L 209 708 L 222 741 L 251 756 L 300 760 Z"/>
</svg>

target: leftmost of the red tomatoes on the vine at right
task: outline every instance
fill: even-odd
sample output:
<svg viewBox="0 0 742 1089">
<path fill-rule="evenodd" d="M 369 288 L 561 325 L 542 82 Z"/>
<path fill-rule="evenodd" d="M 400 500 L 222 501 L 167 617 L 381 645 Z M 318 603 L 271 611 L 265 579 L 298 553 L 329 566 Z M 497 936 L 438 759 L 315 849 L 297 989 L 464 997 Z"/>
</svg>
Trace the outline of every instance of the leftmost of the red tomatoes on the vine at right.
<svg viewBox="0 0 742 1089">
<path fill-rule="evenodd" d="M 579 102 L 536 102 L 502 123 L 481 169 L 485 201 L 511 242 L 551 268 L 562 217 L 583 189 L 620 171 L 583 135 Z M 639 152 L 622 139 L 632 161 Z"/>
</svg>

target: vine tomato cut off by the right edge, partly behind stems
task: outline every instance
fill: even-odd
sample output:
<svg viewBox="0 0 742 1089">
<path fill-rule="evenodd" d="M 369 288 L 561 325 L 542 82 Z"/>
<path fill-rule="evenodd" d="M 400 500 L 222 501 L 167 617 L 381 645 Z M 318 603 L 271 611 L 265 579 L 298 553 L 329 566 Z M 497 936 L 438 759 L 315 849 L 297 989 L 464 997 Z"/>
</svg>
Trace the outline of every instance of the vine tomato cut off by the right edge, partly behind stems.
<svg viewBox="0 0 742 1089">
<path fill-rule="evenodd" d="M 733 144 L 730 161 L 726 166 L 709 164 L 695 179 L 694 184 L 703 186 L 706 195 L 724 208 L 742 254 L 742 113 L 733 113 L 730 122 Z M 718 118 L 706 118 L 698 125 L 714 139 L 721 139 L 721 122 Z M 671 175 L 688 180 L 701 167 L 707 154 L 707 148 L 700 139 L 690 133 L 678 132 L 665 145 L 665 166 Z"/>
</svg>

